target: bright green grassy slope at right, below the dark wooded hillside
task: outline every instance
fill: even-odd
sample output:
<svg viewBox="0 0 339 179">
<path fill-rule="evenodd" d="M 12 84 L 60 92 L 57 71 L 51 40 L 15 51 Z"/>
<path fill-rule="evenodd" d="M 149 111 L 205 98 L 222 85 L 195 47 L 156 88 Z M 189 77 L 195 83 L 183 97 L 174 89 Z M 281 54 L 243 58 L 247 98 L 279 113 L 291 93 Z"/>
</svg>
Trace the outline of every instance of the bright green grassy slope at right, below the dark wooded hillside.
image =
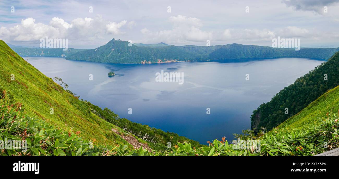
<svg viewBox="0 0 339 179">
<path fill-rule="evenodd" d="M 339 86 L 321 95 L 310 105 L 305 107 L 298 114 L 287 119 L 276 128 L 273 132 L 301 132 L 308 127 L 313 127 L 325 121 L 328 118 L 338 118 L 339 109 Z"/>
</svg>

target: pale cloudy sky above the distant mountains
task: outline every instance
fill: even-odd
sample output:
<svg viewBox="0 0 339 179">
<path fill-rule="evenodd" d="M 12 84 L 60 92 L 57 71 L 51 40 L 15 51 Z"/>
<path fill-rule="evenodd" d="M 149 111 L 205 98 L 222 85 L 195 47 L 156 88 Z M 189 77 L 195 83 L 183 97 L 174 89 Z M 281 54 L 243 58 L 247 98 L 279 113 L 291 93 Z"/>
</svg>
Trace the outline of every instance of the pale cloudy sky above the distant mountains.
<svg viewBox="0 0 339 179">
<path fill-rule="evenodd" d="M 300 38 L 302 47 L 339 47 L 339 0 L 0 0 L 0 39 L 39 47 L 66 38 L 70 48 L 111 39 L 170 45 L 272 46 Z"/>
</svg>

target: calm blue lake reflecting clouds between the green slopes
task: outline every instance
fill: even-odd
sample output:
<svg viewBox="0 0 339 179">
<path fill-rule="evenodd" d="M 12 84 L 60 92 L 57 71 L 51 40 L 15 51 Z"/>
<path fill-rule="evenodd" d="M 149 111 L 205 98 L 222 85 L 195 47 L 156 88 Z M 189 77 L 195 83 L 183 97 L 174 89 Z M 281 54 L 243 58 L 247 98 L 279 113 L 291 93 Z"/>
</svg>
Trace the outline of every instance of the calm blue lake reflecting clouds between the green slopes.
<svg viewBox="0 0 339 179">
<path fill-rule="evenodd" d="M 24 59 L 48 77 L 62 78 L 80 99 L 202 144 L 224 136 L 234 140 L 234 133 L 251 128 L 253 110 L 323 62 L 279 58 L 241 63 L 110 64 L 54 57 Z M 114 77 L 107 76 L 111 71 Z M 183 74 L 183 83 L 156 80 L 161 71 Z"/>
</svg>

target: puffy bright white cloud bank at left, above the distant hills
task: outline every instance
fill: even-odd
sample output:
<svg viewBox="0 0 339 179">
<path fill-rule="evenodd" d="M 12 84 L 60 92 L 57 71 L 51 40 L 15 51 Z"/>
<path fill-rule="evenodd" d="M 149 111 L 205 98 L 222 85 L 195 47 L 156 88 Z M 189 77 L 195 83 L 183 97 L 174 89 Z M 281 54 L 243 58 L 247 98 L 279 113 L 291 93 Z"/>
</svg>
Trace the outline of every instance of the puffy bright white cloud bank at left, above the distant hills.
<svg viewBox="0 0 339 179">
<path fill-rule="evenodd" d="M 71 23 L 54 17 L 49 24 L 37 23 L 29 17 L 22 19 L 20 24 L 13 27 L 1 27 L 0 39 L 6 41 L 39 41 L 41 38 L 67 38 L 81 43 L 95 39 L 103 39 L 108 34 L 120 34 L 121 27 L 127 23 L 123 20 L 119 23 L 109 22 L 100 15 L 94 18 L 76 18 Z M 132 22 L 130 24 L 134 24 Z"/>
</svg>

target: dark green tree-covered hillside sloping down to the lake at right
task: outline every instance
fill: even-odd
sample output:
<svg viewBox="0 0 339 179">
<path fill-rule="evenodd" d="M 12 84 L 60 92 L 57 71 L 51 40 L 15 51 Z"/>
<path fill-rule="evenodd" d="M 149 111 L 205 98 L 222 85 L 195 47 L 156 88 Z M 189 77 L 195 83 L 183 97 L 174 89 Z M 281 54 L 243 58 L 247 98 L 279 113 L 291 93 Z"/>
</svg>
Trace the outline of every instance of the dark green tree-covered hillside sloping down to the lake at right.
<svg viewBox="0 0 339 179">
<path fill-rule="evenodd" d="M 285 87 L 270 102 L 261 104 L 251 116 L 252 128 L 255 128 L 256 132 L 261 126 L 271 130 L 287 118 L 299 113 L 326 91 L 339 85 L 338 63 L 339 52 L 327 62 Z M 288 114 L 285 114 L 285 108 L 288 108 Z"/>
</svg>

